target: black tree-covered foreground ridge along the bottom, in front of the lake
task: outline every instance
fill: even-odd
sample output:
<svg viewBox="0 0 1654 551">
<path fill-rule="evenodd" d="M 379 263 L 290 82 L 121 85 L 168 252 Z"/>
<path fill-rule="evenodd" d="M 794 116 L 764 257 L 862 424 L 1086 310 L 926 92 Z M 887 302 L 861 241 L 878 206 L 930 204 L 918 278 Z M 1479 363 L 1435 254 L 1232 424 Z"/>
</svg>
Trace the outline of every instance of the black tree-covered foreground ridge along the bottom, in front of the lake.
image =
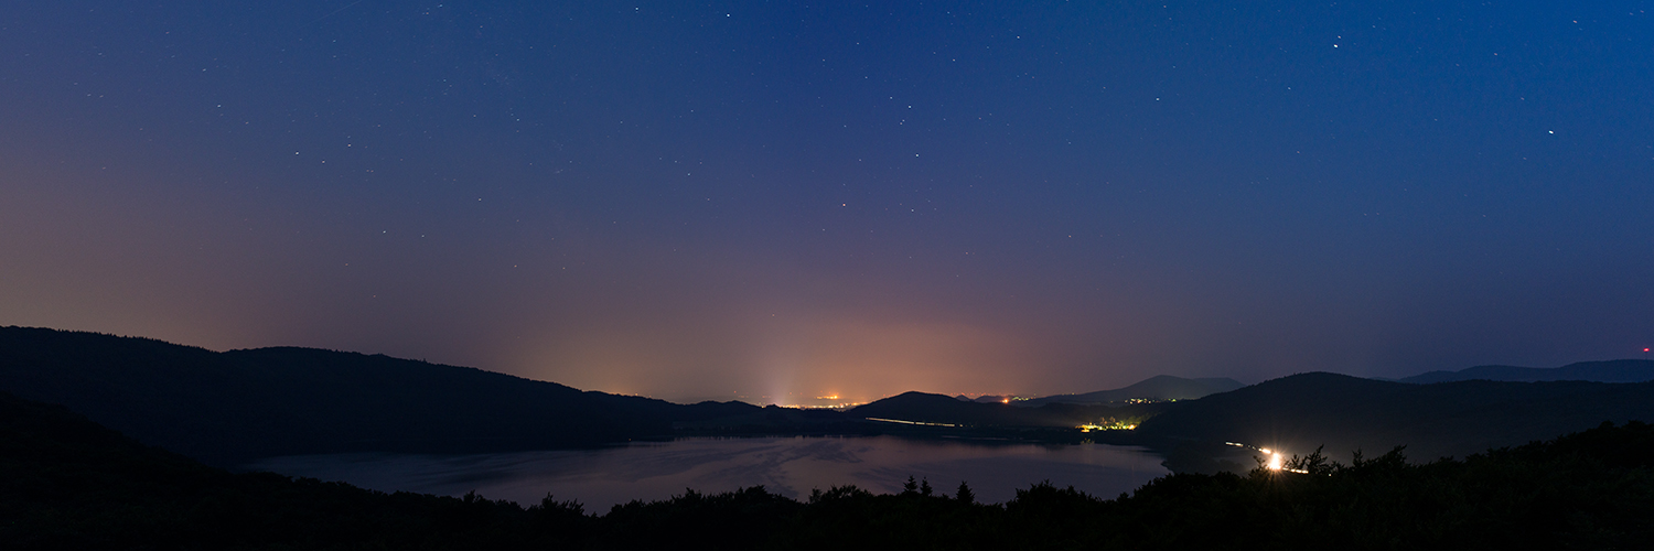
<svg viewBox="0 0 1654 551">
<path fill-rule="evenodd" d="M 1465 460 L 1401 450 L 1305 473 L 1168 475 L 1113 500 L 1035 485 L 1004 505 L 969 488 L 850 486 L 805 501 L 764 488 L 617 505 L 379 493 L 230 473 L 63 407 L 0 394 L 7 549 L 1553 549 L 1654 538 L 1654 427 L 1632 422 Z"/>
</svg>

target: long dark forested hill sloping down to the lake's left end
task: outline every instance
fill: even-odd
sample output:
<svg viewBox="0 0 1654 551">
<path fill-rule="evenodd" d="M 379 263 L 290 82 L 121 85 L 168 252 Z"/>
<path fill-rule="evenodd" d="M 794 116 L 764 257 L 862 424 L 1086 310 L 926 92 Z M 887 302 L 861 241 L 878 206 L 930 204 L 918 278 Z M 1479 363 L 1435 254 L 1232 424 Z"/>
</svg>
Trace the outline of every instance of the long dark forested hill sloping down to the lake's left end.
<svg viewBox="0 0 1654 551">
<path fill-rule="evenodd" d="M 0 390 L 207 463 L 336 452 L 508 452 L 670 435 L 748 404 L 581 392 L 471 367 L 303 347 L 213 352 L 0 328 Z"/>
</svg>

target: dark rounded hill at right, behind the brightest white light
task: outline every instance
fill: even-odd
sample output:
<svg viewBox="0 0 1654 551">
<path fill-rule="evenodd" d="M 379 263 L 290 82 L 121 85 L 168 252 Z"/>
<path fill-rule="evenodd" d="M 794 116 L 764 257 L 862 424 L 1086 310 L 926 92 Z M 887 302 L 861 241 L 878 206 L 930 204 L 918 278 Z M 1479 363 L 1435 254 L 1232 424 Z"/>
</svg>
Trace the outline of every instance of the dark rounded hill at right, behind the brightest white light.
<svg viewBox="0 0 1654 551">
<path fill-rule="evenodd" d="M 1403 384 L 1310 372 L 1214 394 L 1146 420 L 1145 437 L 1240 442 L 1331 458 L 1408 445 L 1434 460 L 1553 438 L 1604 420 L 1654 420 L 1654 384 Z"/>
</svg>

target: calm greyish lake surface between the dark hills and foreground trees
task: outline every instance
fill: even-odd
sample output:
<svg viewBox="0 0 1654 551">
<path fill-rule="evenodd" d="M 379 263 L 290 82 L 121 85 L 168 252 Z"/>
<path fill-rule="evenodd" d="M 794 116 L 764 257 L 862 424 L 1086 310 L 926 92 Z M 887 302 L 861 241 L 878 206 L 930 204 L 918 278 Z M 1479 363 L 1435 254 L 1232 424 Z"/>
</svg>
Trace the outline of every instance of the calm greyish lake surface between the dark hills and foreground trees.
<svg viewBox="0 0 1654 551">
<path fill-rule="evenodd" d="M 911 475 L 941 493 L 968 482 L 979 501 L 1004 503 L 1042 480 L 1113 498 L 1166 475 L 1161 458 L 1136 447 L 1035 445 L 898 437 L 680 438 L 595 450 L 485 455 L 342 453 L 275 457 L 246 465 L 291 477 L 341 480 L 380 491 L 465 495 L 521 505 L 546 493 L 607 513 L 632 500 L 667 500 L 762 485 L 796 500 L 812 488 L 855 485 L 901 491 Z"/>
</svg>

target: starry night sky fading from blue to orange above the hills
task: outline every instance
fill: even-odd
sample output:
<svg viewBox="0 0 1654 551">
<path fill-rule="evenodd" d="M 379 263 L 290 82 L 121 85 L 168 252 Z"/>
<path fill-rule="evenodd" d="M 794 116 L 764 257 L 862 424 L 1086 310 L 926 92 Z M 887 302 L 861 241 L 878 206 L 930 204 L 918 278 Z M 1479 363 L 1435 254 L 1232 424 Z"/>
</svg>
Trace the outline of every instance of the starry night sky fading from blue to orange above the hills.
<svg viewBox="0 0 1654 551">
<path fill-rule="evenodd" d="M 1642 357 L 1651 2 L 8 2 L 0 324 L 672 400 Z"/>
</svg>

